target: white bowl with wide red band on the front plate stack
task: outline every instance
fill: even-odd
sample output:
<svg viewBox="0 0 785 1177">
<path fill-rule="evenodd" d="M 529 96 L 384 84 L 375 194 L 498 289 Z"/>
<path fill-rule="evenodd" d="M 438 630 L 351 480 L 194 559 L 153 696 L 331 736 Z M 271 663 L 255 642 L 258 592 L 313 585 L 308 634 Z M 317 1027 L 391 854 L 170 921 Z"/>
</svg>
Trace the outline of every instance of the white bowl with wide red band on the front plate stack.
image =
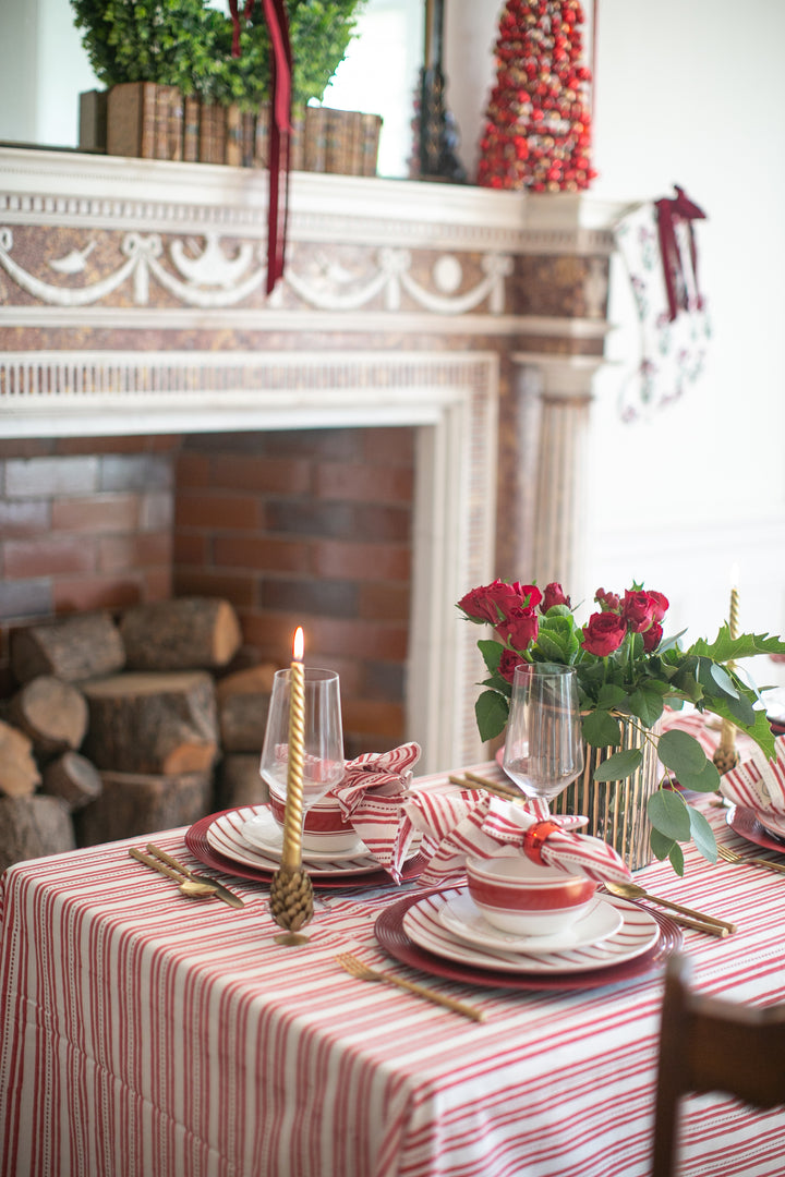
<svg viewBox="0 0 785 1177">
<path fill-rule="evenodd" d="M 488 924 L 518 936 L 552 936 L 565 931 L 594 902 L 597 883 L 538 866 L 524 855 L 470 858 L 468 893 Z"/>
</svg>

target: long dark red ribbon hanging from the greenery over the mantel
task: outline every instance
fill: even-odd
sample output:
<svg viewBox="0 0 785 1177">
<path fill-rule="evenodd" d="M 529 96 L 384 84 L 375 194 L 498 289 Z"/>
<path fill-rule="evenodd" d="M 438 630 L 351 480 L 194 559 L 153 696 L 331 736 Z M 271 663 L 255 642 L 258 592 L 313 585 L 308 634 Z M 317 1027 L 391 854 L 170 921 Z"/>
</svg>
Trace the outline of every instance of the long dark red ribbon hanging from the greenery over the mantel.
<svg viewBox="0 0 785 1177">
<path fill-rule="evenodd" d="M 248 20 L 254 0 L 246 0 Z M 267 208 L 267 293 L 284 273 L 288 221 L 288 162 L 292 134 L 292 47 L 284 0 L 261 0 L 271 41 L 270 201 Z M 229 0 L 232 55 L 240 55 L 238 0 Z"/>
</svg>

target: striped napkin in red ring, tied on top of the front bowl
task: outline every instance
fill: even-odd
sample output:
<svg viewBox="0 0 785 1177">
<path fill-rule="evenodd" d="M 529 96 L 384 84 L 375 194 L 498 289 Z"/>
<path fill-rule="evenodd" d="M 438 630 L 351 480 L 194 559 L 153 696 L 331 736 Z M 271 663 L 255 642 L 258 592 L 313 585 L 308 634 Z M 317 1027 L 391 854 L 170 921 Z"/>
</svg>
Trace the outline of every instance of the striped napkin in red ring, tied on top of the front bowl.
<svg viewBox="0 0 785 1177">
<path fill-rule="evenodd" d="M 406 803 L 412 823 L 426 836 L 426 844 L 435 844 L 419 882 L 426 886 L 454 883 L 463 878 L 467 858 L 520 853 L 543 866 L 600 883 L 631 880 L 630 870 L 607 843 L 565 830 L 564 823 L 574 819 L 551 817 L 545 802 L 534 802 L 534 811 L 530 805 L 490 796 L 478 799 L 467 790 L 452 796 L 413 794 Z"/>
</svg>

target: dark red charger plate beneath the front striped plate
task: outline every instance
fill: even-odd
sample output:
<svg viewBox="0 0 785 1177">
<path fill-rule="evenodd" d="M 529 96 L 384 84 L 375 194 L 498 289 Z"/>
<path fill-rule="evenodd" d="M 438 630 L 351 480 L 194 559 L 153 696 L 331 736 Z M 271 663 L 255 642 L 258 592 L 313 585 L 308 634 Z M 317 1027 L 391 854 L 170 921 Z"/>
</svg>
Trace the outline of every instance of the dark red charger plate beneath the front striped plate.
<svg viewBox="0 0 785 1177">
<path fill-rule="evenodd" d="M 519 975 L 499 972 L 495 969 L 477 967 L 474 965 L 461 964 L 457 960 L 448 960 L 445 957 L 419 947 L 410 939 L 404 929 L 404 916 L 413 904 L 420 903 L 426 896 L 438 896 L 452 889 L 441 887 L 426 892 L 420 891 L 417 895 L 405 896 L 390 907 L 385 907 L 377 917 L 374 924 L 374 932 L 379 945 L 395 960 L 400 960 L 401 964 L 412 965 L 414 969 L 431 973 L 433 977 L 445 977 L 447 980 L 480 985 L 484 989 L 583 990 L 616 985 L 621 980 L 640 977 L 658 965 L 664 964 L 671 953 L 681 947 L 684 940 L 681 929 L 672 919 L 660 915 L 659 911 L 654 911 L 652 907 L 646 907 L 646 913 L 652 916 L 659 925 L 659 939 L 648 952 L 644 952 L 623 964 L 558 976 L 541 973 L 537 976 L 526 975 L 523 963 Z"/>
</svg>

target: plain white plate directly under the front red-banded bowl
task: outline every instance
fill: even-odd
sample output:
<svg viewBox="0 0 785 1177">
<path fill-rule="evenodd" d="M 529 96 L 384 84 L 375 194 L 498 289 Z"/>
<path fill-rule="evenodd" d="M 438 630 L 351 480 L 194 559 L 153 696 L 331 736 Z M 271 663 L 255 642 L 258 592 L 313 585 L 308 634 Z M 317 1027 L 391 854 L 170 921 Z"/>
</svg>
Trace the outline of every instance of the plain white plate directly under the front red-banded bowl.
<svg viewBox="0 0 785 1177">
<path fill-rule="evenodd" d="M 461 892 L 439 909 L 439 919 L 453 936 L 465 944 L 479 949 L 500 949 L 503 952 L 560 952 L 579 949 L 585 944 L 599 944 L 621 927 L 624 917 L 618 907 L 599 896 L 572 927 L 552 936 L 514 936 L 494 927 L 475 906 L 471 895 Z"/>
</svg>

